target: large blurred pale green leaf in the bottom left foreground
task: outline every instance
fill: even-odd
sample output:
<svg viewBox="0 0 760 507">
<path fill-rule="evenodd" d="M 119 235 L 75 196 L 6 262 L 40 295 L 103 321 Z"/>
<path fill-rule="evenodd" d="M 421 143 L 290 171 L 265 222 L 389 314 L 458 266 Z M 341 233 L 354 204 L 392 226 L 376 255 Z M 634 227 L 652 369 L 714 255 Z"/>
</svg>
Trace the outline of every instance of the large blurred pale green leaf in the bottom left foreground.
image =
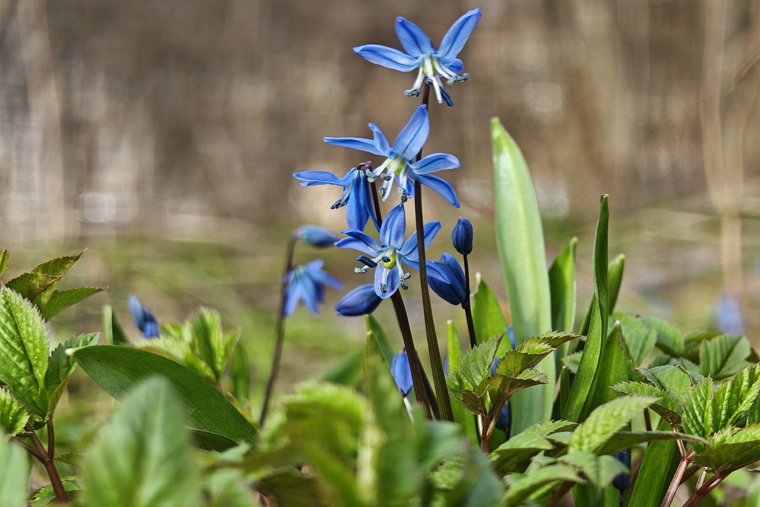
<svg viewBox="0 0 760 507">
<path fill-rule="evenodd" d="M 113 346 L 80 350 L 95 347 Z M 136 385 L 84 459 L 87 504 L 182 507 L 198 502 L 198 469 L 184 414 L 185 407 L 165 379 Z"/>
</svg>

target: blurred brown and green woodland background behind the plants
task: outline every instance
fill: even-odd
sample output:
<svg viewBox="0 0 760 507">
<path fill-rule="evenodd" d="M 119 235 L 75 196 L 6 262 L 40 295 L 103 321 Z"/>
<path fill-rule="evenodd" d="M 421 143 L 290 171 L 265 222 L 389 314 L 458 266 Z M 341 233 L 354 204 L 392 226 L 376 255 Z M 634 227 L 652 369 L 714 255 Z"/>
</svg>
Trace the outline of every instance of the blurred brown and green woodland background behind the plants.
<svg viewBox="0 0 760 507">
<path fill-rule="evenodd" d="M 403 93 L 416 74 L 351 48 L 401 47 L 397 15 L 437 45 L 476 7 L 483 18 L 460 55 L 470 80 L 448 89 L 454 108 L 430 108 L 425 151 L 461 160 L 444 176 L 462 207 L 426 194 L 426 220 L 443 225 L 429 258 L 453 251 L 458 216 L 472 220 L 470 265 L 508 311 L 492 222 L 489 119 L 499 116 L 530 166 L 547 260 L 579 238 L 578 321 L 607 193 L 610 258 L 626 255 L 618 310 L 683 331 L 743 333 L 757 347 L 752 0 L 0 0 L 4 280 L 88 248 L 62 288 L 110 288 L 56 317 L 54 341 L 102 328 L 106 303 L 137 338 L 130 293 L 161 322 L 213 306 L 226 328 L 242 330 L 259 404 L 287 236 L 300 223 L 345 227 L 344 211 L 329 209 L 340 189 L 302 189 L 291 174 L 343 176 L 366 155 L 325 135 L 369 137 L 375 122 L 392 140 L 419 103 Z M 299 246 L 296 261 L 325 258 L 348 290 L 369 283 L 353 273 L 355 256 Z M 422 343 L 411 281 L 407 309 Z M 341 295 L 328 290 L 320 316 L 299 309 L 288 319 L 280 393 L 363 343 L 362 319 L 334 315 Z M 464 329 L 461 310 L 433 297 L 439 332 L 447 318 Z M 377 315 L 401 347 L 390 305 Z"/>
</svg>

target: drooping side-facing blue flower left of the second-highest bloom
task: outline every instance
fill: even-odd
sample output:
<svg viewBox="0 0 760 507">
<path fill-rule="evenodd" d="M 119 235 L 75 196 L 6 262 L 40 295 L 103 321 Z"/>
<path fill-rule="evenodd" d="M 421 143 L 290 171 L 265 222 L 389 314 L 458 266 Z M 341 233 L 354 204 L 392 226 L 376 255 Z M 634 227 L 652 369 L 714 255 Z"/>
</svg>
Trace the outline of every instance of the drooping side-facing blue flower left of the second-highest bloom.
<svg viewBox="0 0 760 507">
<path fill-rule="evenodd" d="M 338 178 L 329 171 L 302 171 L 293 173 L 293 177 L 302 181 L 301 186 L 311 185 L 338 185 L 343 187 L 343 195 L 330 207 L 335 210 L 346 206 L 346 223 L 352 229 L 364 230 L 367 220 L 372 218 L 375 227 L 378 227 L 375 219 L 375 211 L 372 208 L 372 195 L 367 185 L 368 170 L 372 170 L 372 163 L 360 163 L 346 173 L 343 178 Z M 372 173 L 369 173 L 372 174 Z M 376 176 L 372 176 L 372 181 Z"/>
</svg>

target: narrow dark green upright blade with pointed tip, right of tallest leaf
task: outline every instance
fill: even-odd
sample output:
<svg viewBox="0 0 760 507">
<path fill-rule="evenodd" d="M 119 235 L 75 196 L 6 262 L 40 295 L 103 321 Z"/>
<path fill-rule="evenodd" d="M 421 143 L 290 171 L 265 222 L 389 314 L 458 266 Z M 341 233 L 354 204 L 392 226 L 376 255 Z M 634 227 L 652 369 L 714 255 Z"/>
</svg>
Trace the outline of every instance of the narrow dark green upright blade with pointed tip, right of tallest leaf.
<svg viewBox="0 0 760 507">
<path fill-rule="evenodd" d="M 586 344 L 583 348 L 581 363 L 575 380 L 570 388 L 568 402 L 562 419 L 581 421 L 584 418 L 584 404 L 586 398 L 594 393 L 594 379 L 596 379 L 599 358 L 603 349 L 603 340 L 607 336 L 608 285 L 607 285 L 607 225 L 610 220 L 610 209 L 607 204 L 607 196 L 602 195 L 599 201 L 599 221 L 597 233 L 594 239 L 594 252 L 591 255 L 591 268 L 594 278 L 594 300 L 591 306 L 591 320 L 589 321 Z M 586 406 L 586 413 L 589 406 Z"/>
</svg>

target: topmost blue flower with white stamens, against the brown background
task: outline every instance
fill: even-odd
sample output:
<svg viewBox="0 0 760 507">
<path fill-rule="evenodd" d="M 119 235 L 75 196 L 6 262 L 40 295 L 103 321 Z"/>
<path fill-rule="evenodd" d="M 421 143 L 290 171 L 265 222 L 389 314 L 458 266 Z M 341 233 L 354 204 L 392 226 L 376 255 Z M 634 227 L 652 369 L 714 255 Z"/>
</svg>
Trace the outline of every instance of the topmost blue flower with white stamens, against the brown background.
<svg viewBox="0 0 760 507">
<path fill-rule="evenodd" d="M 442 103 L 443 86 L 441 78 L 448 80 L 448 84 L 457 81 L 467 81 L 469 74 L 459 76 L 463 70 L 462 61 L 457 55 L 467 43 L 470 33 L 473 33 L 477 22 L 480 21 L 480 9 L 474 9 L 463 14 L 448 29 L 438 50 L 433 49 L 429 36 L 416 24 L 407 21 L 404 17 L 396 18 L 396 35 L 404 46 L 406 53 L 388 46 L 367 44 L 358 46 L 353 50 L 363 59 L 369 62 L 392 68 L 396 71 L 409 72 L 419 68 L 417 78 L 411 90 L 404 92 L 407 97 L 418 97 L 424 79 L 432 81 L 435 88 L 435 96 L 438 103 Z M 448 101 L 447 101 L 448 102 Z"/>
</svg>

